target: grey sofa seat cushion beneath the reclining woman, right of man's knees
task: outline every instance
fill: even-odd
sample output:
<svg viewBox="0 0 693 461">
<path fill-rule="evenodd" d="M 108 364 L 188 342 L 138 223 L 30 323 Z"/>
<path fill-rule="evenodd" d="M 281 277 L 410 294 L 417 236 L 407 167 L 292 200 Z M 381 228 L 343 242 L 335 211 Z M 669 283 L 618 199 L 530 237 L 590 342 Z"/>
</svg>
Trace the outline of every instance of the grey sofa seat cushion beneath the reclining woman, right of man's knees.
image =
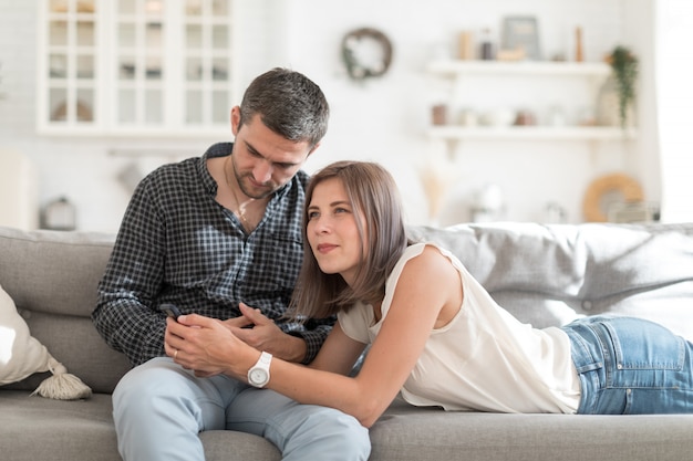
<svg viewBox="0 0 693 461">
<path fill-rule="evenodd" d="M 517 415 L 414 408 L 401 398 L 373 425 L 380 461 L 679 461 L 691 415 Z"/>
</svg>

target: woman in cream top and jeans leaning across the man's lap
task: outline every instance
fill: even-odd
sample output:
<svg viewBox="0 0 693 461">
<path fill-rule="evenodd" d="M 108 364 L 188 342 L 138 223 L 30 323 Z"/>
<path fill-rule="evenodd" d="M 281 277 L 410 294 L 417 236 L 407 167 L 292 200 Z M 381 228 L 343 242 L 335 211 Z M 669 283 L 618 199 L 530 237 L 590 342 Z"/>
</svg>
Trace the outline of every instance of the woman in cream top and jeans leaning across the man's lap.
<svg viewBox="0 0 693 461">
<path fill-rule="evenodd" d="M 169 321 L 166 352 L 177 363 L 197 374 L 248 377 L 365 427 L 399 391 L 413 405 L 447 410 L 693 412 L 693 344 L 629 317 L 545 329 L 521 324 L 449 252 L 407 241 L 395 184 L 376 164 L 328 166 L 311 179 L 306 203 L 309 244 L 293 312 L 338 315 L 310 367 L 271 358 L 263 366 L 261 345 L 197 315 Z M 267 322 L 246 305 L 241 311 L 248 323 Z"/>
</svg>

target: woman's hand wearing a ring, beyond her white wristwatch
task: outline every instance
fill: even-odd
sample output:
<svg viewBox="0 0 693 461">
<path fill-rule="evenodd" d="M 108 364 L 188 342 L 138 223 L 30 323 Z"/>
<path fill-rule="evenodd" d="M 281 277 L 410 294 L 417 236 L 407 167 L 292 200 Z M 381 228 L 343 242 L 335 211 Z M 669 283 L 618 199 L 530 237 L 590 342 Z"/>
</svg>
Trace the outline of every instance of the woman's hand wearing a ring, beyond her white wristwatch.
<svg viewBox="0 0 693 461">
<path fill-rule="evenodd" d="M 196 376 L 226 374 L 244 381 L 259 356 L 220 321 L 197 314 L 166 319 L 164 348 L 175 363 Z"/>
</svg>

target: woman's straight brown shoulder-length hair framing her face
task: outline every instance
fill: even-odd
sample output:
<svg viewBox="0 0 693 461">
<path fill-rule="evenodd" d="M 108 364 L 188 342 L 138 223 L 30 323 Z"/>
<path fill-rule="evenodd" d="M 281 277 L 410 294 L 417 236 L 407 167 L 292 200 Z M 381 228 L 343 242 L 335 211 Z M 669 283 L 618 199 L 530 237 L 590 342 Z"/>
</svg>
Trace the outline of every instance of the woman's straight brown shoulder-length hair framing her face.
<svg viewBox="0 0 693 461">
<path fill-rule="evenodd" d="M 316 187 L 332 178 L 339 179 L 346 191 L 362 243 L 353 286 L 339 273 L 323 273 L 308 243 L 308 207 Z M 364 217 L 365 228 L 360 216 Z M 402 201 L 387 170 L 366 161 L 338 161 L 324 167 L 312 176 L 306 192 L 303 265 L 289 315 L 302 321 L 323 318 L 349 310 L 359 301 L 380 302 L 385 294 L 385 281 L 407 244 Z"/>
</svg>

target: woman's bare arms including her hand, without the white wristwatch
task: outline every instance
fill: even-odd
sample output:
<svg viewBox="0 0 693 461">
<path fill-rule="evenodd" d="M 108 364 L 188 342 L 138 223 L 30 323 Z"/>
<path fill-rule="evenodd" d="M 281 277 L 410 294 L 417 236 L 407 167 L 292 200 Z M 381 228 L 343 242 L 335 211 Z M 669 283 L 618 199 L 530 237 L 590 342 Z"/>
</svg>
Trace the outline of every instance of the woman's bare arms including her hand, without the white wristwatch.
<svg viewBox="0 0 693 461">
<path fill-rule="evenodd" d="M 410 260 L 397 282 L 392 305 L 356 377 L 344 376 L 363 345 L 339 326 L 310 368 L 273 359 L 268 388 L 302 404 L 332 407 L 371 427 L 395 398 L 439 318 L 452 318 L 462 304 L 457 271 L 427 247 Z M 176 362 L 205 376 L 226 373 L 246 380 L 260 353 L 234 337 L 217 321 L 188 315 L 184 325 L 169 321 L 166 350 Z M 215 326 L 216 324 L 216 326 Z"/>
</svg>

